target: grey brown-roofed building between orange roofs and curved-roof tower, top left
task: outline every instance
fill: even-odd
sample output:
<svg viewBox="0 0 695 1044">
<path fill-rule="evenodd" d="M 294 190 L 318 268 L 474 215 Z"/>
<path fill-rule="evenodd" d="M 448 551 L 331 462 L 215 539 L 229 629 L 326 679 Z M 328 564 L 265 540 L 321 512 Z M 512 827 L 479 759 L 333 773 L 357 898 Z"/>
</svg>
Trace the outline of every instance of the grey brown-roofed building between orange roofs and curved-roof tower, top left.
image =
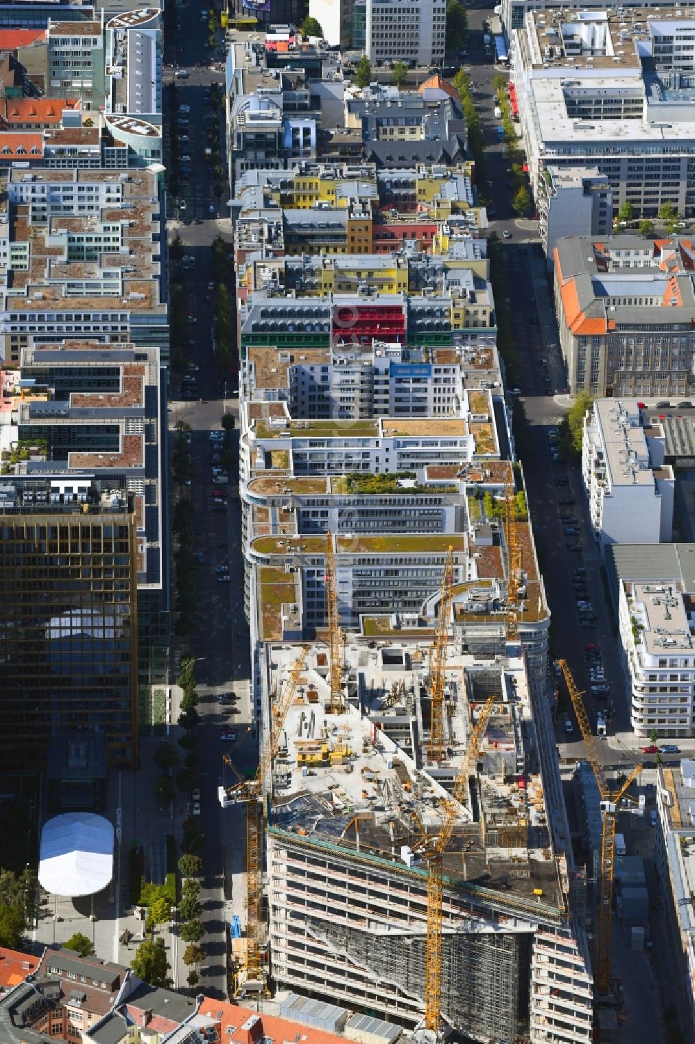
<svg viewBox="0 0 695 1044">
<path fill-rule="evenodd" d="M 99 112 L 104 103 L 103 22 L 48 20 L 47 93 L 76 95 L 85 110 Z"/>
</svg>

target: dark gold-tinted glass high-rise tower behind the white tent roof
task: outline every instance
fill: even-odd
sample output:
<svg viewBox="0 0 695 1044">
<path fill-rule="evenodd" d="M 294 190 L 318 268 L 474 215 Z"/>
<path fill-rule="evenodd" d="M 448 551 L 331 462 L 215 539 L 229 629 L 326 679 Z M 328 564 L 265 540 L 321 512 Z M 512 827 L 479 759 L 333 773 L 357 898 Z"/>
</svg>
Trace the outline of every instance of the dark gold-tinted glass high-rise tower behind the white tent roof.
<svg viewBox="0 0 695 1044">
<path fill-rule="evenodd" d="M 103 733 L 111 764 L 134 765 L 135 498 L 89 479 L 22 485 L 0 487 L 3 765 L 40 763 L 66 732 Z"/>
</svg>

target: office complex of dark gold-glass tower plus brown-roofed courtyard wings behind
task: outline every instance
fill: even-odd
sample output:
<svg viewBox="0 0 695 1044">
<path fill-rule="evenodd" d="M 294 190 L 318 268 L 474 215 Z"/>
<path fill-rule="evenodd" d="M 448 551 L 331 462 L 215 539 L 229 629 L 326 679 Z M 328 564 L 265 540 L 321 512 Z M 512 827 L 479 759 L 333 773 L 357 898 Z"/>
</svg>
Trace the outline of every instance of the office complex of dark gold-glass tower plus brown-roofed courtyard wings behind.
<svg viewBox="0 0 695 1044">
<path fill-rule="evenodd" d="M 19 757 L 96 732 L 131 764 L 167 680 L 165 387 L 157 349 L 131 345 L 26 347 L 3 374 L 4 742 Z"/>
</svg>

